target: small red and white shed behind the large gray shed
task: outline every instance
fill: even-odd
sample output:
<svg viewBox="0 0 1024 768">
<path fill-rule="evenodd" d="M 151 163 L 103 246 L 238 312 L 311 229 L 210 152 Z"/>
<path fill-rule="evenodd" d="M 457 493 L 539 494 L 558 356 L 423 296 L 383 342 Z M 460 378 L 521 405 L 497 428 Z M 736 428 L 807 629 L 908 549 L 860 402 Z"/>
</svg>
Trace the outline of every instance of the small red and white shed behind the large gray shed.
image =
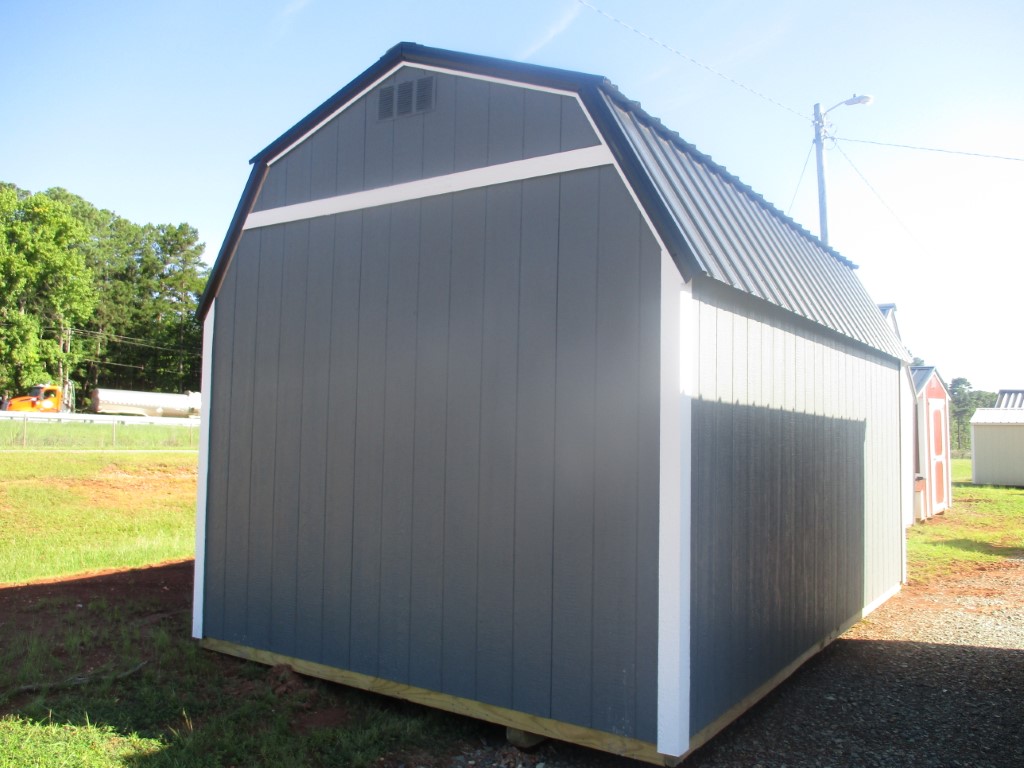
<svg viewBox="0 0 1024 768">
<path fill-rule="evenodd" d="M 912 366 L 918 395 L 918 475 L 922 486 L 914 498 L 914 517 L 927 520 L 952 505 L 949 463 L 949 390 L 931 366 Z"/>
</svg>

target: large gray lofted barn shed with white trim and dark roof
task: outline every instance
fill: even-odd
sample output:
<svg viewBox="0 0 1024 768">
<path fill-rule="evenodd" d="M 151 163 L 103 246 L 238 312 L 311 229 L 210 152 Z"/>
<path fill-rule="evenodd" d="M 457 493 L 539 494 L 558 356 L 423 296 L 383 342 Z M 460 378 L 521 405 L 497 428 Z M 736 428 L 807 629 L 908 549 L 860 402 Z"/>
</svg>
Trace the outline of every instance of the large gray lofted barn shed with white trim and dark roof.
<svg viewBox="0 0 1024 768">
<path fill-rule="evenodd" d="M 602 78 L 392 48 L 201 314 L 209 648 L 674 764 L 899 589 L 902 346 Z"/>
</svg>

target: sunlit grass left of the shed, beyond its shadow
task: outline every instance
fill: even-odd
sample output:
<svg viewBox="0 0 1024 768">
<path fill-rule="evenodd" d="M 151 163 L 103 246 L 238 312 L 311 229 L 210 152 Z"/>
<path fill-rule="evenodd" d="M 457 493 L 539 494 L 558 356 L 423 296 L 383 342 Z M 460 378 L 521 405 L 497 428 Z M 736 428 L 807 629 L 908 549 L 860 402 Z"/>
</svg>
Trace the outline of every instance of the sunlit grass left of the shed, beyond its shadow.
<svg viewBox="0 0 1024 768">
<path fill-rule="evenodd" d="M 0 453 L 0 584 L 190 557 L 193 453 Z"/>
</svg>

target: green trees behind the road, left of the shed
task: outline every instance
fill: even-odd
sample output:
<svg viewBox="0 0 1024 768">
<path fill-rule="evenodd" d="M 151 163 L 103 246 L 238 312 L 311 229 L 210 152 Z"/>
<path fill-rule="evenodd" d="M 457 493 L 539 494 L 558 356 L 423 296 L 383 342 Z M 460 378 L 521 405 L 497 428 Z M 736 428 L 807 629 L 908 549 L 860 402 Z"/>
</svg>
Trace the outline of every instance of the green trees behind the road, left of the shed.
<svg viewBox="0 0 1024 768">
<path fill-rule="evenodd" d="M 0 182 L 0 393 L 70 379 L 82 406 L 98 386 L 198 390 L 203 251 L 186 223 Z"/>
</svg>

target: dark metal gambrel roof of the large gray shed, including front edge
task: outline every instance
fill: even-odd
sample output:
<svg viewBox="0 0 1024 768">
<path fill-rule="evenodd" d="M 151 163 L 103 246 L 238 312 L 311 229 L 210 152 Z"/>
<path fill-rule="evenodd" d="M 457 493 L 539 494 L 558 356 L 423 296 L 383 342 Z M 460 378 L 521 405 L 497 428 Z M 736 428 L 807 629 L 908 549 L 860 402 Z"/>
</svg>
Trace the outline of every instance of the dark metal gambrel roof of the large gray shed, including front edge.
<svg viewBox="0 0 1024 768">
<path fill-rule="evenodd" d="M 270 164 L 398 68 L 425 68 L 573 94 L 683 278 L 754 297 L 890 357 L 906 352 L 854 264 L 627 99 L 603 77 L 400 43 L 253 158 L 200 303 L 219 291 Z"/>
</svg>

